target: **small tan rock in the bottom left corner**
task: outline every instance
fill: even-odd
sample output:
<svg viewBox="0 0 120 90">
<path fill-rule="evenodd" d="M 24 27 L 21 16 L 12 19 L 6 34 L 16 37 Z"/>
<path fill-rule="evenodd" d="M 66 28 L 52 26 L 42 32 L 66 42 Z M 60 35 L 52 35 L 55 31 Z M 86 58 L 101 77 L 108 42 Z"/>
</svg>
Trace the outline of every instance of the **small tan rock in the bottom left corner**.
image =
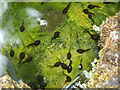
<svg viewBox="0 0 120 90">
<path fill-rule="evenodd" d="M 19 83 L 14 80 L 9 75 L 5 75 L 0 78 L 0 89 L 2 88 L 24 88 L 24 89 L 31 89 L 25 83 Z"/>
</svg>

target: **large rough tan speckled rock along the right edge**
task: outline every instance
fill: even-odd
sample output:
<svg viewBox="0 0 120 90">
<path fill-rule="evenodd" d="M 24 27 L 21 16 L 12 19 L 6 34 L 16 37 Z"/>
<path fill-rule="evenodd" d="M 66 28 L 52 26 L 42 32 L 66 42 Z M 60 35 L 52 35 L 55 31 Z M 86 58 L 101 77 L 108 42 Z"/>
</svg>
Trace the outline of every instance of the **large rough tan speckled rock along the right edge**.
<svg viewBox="0 0 120 90">
<path fill-rule="evenodd" d="M 89 88 L 118 88 L 118 44 L 119 22 L 118 14 L 107 18 L 101 25 L 100 59 L 92 70 L 93 77 L 88 81 Z M 92 83 L 91 83 L 92 82 Z"/>
</svg>

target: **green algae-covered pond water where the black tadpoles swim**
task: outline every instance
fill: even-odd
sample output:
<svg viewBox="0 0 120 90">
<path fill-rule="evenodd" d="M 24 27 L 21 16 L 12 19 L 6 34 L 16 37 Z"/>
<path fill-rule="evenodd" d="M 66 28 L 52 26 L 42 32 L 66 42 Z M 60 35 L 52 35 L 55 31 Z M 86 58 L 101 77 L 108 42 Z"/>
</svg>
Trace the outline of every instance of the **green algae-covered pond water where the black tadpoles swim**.
<svg viewBox="0 0 120 90">
<path fill-rule="evenodd" d="M 1 48 L 1 52 L 13 62 L 16 76 L 32 88 L 63 88 L 83 70 L 90 71 L 91 62 L 98 58 L 99 47 L 98 41 L 85 31 L 98 34 L 93 31 L 93 24 L 100 26 L 106 18 L 118 12 L 119 3 L 72 2 L 69 8 L 68 4 L 8 2 L 9 8 L 2 17 L 2 28 L 9 34 L 9 37 L 6 36 L 9 42 Z M 68 10 L 63 13 L 65 8 Z M 84 12 L 84 9 L 87 11 Z M 40 25 L 39 18 L 46 20 L 47 25 Z M 59 35 L 55 36 L 55 32 Z M 16 40 L 19 42 L 14 42 Z M 36 40 L 40 42 L 36 44 Z M 78 53 L 78 49 L 84 52 Z M 69 51 L 71 57 L 68 59 Z M 59 62 L 58 65 L 51 67 L 56 62 Z M 70 72 L 66 68 L 69 64 L 72 67 Z"/>
</svg>

